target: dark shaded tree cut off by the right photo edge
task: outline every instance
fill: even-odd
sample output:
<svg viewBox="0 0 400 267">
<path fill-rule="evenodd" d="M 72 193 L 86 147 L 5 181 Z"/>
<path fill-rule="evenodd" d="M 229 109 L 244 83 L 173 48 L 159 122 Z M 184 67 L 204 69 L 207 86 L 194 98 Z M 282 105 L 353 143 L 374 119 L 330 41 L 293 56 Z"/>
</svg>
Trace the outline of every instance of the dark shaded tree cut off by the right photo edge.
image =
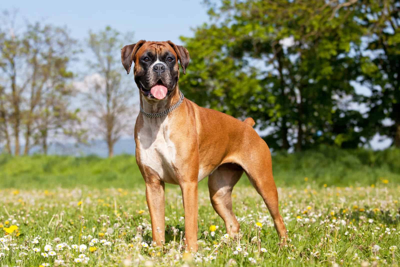
<svg viewBox="0 0 400 267">
<path fill-rule="evenodd" d="M 372 132 L 400 147 L 400 1 L 363 1 L 358 22 L 366 30 L 356 50 L 362 75 L 358 82 L 371 90 L 361 99 L 369 108 Z"/>
</svg>

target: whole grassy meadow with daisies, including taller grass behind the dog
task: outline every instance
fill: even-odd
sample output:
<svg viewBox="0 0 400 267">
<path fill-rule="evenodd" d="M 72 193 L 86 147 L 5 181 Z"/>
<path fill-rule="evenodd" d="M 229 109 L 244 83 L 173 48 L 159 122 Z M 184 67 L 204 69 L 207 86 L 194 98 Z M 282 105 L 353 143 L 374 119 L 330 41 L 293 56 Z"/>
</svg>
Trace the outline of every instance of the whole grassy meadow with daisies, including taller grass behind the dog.
<svg viewBox="0 0 400 267">
<path fill-rule="evenodd" d="M 400 151 L 276 153 L 288 242 L 262 198 L 234 188 L 229 238 L 200 182 L 198 253 L 185 253 L 180 189 L 166 185 L 166 244 L 151 242 L 134 156 L 0 155 L 0 266 L 399 266 Z"/>
</svg>

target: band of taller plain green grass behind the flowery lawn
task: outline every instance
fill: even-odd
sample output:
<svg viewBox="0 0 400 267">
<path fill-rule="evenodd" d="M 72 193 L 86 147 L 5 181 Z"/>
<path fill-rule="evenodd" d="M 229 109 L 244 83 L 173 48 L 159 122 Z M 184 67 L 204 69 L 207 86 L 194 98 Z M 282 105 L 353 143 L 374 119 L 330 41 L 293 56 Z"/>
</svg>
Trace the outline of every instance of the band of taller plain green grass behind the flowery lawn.
<svg viewBox="0 0 400 267">
<path fill-rule="evenodd" d="M 308 177 L 308 183 L 318 186 L 371 185 L 380 183 L 382 179 L 400 183 L 399 158 L 400 150 L 394 148 L 372 151 L 321 146 L 301 153 L 276 152 L 272 163 L 278 186 L 302 185 L 305 177 Z M 96 156 L 0 155 L 0 179 L 3 188 L 144 187 L 132 155 L 109 159 Z M 245 175 L 239 184 L 250 186 Z M 200 187 L 206 186 L 206 181 L 200 183 Z"/>
</svg>

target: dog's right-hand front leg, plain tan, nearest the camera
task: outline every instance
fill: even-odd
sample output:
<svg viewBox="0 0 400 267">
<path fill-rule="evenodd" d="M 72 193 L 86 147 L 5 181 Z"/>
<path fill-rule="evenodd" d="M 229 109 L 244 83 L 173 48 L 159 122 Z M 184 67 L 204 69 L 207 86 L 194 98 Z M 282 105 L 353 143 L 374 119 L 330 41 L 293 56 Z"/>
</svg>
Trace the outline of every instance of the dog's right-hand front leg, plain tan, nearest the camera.
<svg viewBox="0 0 400 267">
<path fill-rule="evenodd" d="M 197 177 L 196 177 L 197 178 Z M 183 208 L 185 211 L 185 244 L 187 251 L 196 252 L 197 247 L 197 215 L 198 215 L 198 191 L 197 179 L 184 181 L 180 185 L 182 189 Z"/>
</svg>

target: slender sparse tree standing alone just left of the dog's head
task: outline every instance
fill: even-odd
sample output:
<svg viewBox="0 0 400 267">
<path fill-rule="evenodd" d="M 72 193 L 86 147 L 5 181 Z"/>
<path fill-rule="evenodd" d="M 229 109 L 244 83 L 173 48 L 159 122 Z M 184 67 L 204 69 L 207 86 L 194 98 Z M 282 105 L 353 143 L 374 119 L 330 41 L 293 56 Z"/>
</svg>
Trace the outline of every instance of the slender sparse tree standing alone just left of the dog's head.
<svg viewBox="0 0 400 267">
<path fill-rule="evenodd" d="M 132 34 L 127 34 L 132 40 Z M 92 58 L 88 62 L 92 75 L 99 75 L 89 85 L 86 94 L 92 134 L 102 137 L 108 146 L 108 156 L 114 154 L 114 144 L 124 134 L 133 133 L 134 109 L 131 85 L 122 80 L 121 62 L 118 57 L 124 45 L 120 32 L 107 26 L 98 33 L 89 32 L 88 46 Z"/>
</svg>

